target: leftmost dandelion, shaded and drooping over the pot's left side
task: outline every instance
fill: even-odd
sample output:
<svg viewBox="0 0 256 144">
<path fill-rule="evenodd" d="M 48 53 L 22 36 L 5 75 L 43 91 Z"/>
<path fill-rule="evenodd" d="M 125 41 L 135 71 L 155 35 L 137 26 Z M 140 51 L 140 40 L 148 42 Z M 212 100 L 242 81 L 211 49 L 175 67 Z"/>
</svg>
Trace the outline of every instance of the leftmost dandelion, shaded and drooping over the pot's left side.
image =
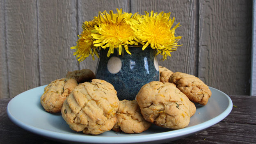
<svg viewBox="0 0 256 144">
<path fill-rule="evenodd" d="M 94 29 L 94 25 L 96 25 L 95 21 L 85 21 L 82 25 L 83 32 L 78 35 L 79 39 L 77 41 L 77 45 L 71 47 L 71 49 L 75 49 L 76 51 L 73 55 L 76 55 L 78 62 L 82 62 L 89 55 L 94 59 L 94 54 L 98 56 L 97 47 L 93 46 L 94 39 L 91 37 L 91 30 Z"/>
</svg>

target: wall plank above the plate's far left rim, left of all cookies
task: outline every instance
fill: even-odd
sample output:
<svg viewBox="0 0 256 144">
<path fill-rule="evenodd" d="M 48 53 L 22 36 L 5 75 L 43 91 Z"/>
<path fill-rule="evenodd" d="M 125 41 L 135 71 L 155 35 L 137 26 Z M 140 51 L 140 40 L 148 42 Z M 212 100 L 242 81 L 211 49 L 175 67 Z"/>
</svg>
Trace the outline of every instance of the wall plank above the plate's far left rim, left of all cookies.
<svg viewBox="0 0 256 144">
<path fill-rule="evenodd" d="M 5 5 L 9 96 L 14 97 L 39 86 L 37 6 L 34 0 Z"/>
</svg>

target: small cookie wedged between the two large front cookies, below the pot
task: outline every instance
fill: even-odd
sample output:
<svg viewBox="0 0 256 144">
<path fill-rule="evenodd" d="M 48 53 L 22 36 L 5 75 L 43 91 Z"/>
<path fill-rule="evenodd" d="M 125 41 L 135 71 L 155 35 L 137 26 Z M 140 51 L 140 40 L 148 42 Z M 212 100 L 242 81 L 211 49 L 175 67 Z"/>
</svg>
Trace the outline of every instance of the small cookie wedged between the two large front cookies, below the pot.
<svg viewBox="0 0 256 144">
<path fill-rule="evenodd" d="M 112 128 L 116 132 L 142 133 L 151 126 L 151 123 L 142 117 L 139 105 L 135 100 L 119 101 L 116 116 L 117 122 Z"/>
</svg>

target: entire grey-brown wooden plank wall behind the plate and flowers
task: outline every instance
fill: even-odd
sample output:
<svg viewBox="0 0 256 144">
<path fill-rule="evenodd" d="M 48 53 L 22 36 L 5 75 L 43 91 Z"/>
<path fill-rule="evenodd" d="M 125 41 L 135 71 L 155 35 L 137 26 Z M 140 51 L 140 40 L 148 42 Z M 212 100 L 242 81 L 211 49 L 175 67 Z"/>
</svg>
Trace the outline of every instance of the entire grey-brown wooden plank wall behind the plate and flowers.
<svg viewBox="0 0 256 144">
<path fill-rule="evenodd" d="M 249 95 L 252 2 L 248 0 L 1 0 L 0 98 L 62 78 L 67 71 L 96 70 L 72 55 L 82 22 L 98 11 L 171 12 L 181 27 L 181 48 L 159 64 L 198 76 L 229 95 Z"/>
</svg>

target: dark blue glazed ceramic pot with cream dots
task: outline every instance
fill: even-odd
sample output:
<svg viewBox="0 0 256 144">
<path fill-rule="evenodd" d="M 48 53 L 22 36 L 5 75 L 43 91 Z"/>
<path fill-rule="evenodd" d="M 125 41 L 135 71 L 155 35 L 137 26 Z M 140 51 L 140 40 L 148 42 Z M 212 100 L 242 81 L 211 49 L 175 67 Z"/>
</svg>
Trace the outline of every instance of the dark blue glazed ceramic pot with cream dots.
<svg viewBox="0 0 256 144">
<path fill-rule="evenodd" d="M 129 46 L 132 55 L 117 50 L 107 57 L 108 48 L 101 49 L 96 69 L 96 78 L 110 82 L 117 91 L 119 100 L 134 100 L 140 88 L 151 81 L 159 81 L 158 60 L 155 50 L 141 46 Z"/>
</svg>

